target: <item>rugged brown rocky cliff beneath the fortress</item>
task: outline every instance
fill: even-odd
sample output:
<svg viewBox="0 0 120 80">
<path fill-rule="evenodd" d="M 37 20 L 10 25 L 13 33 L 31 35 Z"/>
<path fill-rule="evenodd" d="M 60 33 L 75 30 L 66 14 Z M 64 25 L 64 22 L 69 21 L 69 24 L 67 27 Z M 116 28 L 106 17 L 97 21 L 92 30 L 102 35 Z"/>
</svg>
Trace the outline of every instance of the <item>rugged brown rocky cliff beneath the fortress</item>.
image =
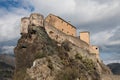
<svg viewBox="0 0 120 80">
<path fill-rule="evenodd" d="M 58 42 L 48 35 L 45 24 L 29 24 L 28 33 L 21 35 L 14 49 L 14 80 L 111 80 L 109 68 L 85 49 L 83 41 L 80 47 L 69 39 Z"/>
</svg>

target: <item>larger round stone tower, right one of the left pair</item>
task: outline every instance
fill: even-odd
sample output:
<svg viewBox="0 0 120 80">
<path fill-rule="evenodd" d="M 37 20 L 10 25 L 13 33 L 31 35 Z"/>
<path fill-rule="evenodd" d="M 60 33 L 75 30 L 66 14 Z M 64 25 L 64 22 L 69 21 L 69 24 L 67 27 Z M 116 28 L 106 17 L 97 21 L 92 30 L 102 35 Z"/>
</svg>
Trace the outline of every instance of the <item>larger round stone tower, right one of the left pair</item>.
<svg viewBox="0 0 120 80">
<path fill-rule="evenodd" d="M 44 23 L 44 16 L 38 13 L 33 13 L 30 15 L 30 24 L 34 26 L 42 26 Z"/>
</svg>

